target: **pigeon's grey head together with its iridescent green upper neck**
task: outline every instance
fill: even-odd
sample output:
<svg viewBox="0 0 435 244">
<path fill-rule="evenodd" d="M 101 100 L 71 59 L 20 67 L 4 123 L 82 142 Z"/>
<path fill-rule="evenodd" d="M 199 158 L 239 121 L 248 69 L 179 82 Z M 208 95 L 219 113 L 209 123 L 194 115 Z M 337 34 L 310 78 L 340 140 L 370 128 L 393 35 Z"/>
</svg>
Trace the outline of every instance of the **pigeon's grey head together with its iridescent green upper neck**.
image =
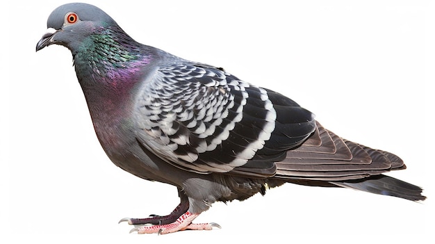
<svg viewBox="0 0 435 244">
<path fill-rule="evenodd" d="M 87 3 L 67 3 L 47 21 L 48 32 L 36 51 L 60 44 L 71 52 L 79 82 L 131 81 L 149 64 L 149 47 L 136 42 L 103 10 Z M 138 73 L 139 72 L 139 73 Z"/>
</svg>

